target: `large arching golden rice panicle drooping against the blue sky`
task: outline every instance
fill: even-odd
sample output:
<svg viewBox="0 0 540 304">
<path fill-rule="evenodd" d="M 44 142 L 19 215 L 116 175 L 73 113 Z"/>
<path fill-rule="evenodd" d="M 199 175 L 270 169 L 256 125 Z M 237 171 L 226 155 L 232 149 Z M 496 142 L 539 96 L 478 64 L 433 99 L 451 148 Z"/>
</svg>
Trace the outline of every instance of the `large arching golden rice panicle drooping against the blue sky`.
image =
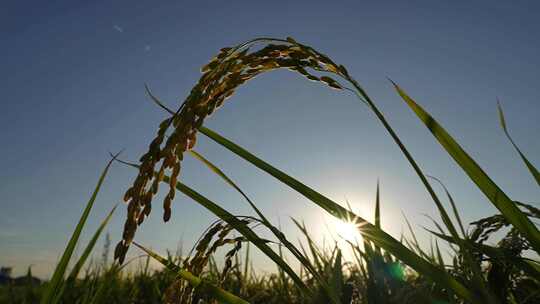
<svg viewBox="0 0 540 304">
<path fill-rule="evenodd" d="M 265 45 L 250 52 L 257 43 Z M 311 81 L 325 83 L 334 89 L 343 87 L 331 77 L 318 77 L 308 70 L 348 77 L 343 66 L 292 38 L 256 39 L 234 48 L 221 49 L 220 53 L 202 68 L 202 77 L 178 111 L 160 124 L 148 152 L 141 157 L 139 174 L 124 195 L 124 200 L 128 203 L 128 214 L 122 240 L 116 246 L 115 258 L 121 262 L 124 260 L 137 226 L 150 214 L 152 198 L 158 192 L 159 183 L 163 181 L 166 171 L 170 172 L 170 179 L 169 192 L 163 201 L 163 220 L 170 219 L 171 202 L 175 196 L 175 185 L 184 152 L 194 147 L 197 129 L 204 119 L 232 96 L 238 86 L 258 74 L 280 68 L 298 72 Z M 171 125 L 173 130 L 166 139 Z"/>
</svg>

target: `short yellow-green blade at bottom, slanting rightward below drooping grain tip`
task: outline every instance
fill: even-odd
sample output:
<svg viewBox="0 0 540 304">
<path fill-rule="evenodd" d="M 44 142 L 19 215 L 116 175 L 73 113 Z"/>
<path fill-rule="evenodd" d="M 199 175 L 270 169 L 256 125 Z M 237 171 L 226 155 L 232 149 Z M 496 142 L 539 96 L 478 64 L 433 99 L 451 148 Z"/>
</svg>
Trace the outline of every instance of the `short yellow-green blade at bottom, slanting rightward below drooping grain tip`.
<svg viewBox="0 0 540 304">
<path fill-rule="evenodd" d="M 141 250 L 146 252 L 149 256 L 154 258 L 156 261 L 161 263 L 163 266 L 165 266 L 169 271 L 177 274 L 182 279 L 186 280 L 193 286 L 194 288 L 197 288 L 201 292 L 204 292 L 206 294 L 211 295 L 215 299 L 219 301 L 223 301 L 224 303 L 228 304 L 249 304 L 248 301 L 241 299 L 232 293 L 225 291 L 217 286 L 214 286 L 212 283 L 201 279 L 195 275 L 193 275 L 191 272 L 180 268 L 178 265 L 174 264 L 170 260 L 167 260 L 163 257 L 161 257 L 159 254 L 153 252 L 152 250 L 143 247 L 140 244 L 137 244 L 136 242 L 133 242 L 135 246 L 139 247 Z"/>
</svg>

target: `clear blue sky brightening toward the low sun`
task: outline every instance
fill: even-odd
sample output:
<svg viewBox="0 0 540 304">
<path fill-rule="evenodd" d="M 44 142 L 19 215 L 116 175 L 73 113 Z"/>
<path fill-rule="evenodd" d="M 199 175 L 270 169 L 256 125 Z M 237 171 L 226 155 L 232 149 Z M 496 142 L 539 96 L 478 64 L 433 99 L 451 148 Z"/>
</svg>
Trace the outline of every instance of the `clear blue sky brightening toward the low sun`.
<svg viewBox="0 0 540 304">
<path fill-rule="evenodd" d="M 0 265 L 48 276 L 109 159 L 136 160 L 165 113 L 144 83 L 176 107 L 217 50 L 257 36 L 295 37 L 348 67 L 425 171 L 442 179 L 467 222 L 494 209 L 392 90 L 398 82 L 514 199 L 539 189 L 499 128 L 502 100 L 514 139 L 540 155 L 538 1 L 10 1 L 0 4 Z M 397 146 L 350 94 L 278 71 L 237 91 L 206 125 L 371 218 L 381 181 L 383 226 L 396 237 L 403 211 L 420 230 L 436 216 Z M 324 234 L 323 212 L 200 137 L 218 164 L 286 232 L 289 217 Z M 192 158 L 184 181 L 235 214 L 241 198 Z M 114 165 L 85 240 L 135 172 Z M 159 205 L 156 201 L 156 205 Z M 538 205 L 537 205 L 538 206 Z M 125 208 L 108 230 L 121 236 Z M 182 195 L 136 236 L 160 252 L 190 247 L 213 216 Z M 420 232 L 423 239 L 427 235 Z M 100 243 L 97 250 L 101 247 Z M 136 254 L 135 248 L 131 254 Z M 272 270 L 266 259 L 258 265 Z"/>
</svg>

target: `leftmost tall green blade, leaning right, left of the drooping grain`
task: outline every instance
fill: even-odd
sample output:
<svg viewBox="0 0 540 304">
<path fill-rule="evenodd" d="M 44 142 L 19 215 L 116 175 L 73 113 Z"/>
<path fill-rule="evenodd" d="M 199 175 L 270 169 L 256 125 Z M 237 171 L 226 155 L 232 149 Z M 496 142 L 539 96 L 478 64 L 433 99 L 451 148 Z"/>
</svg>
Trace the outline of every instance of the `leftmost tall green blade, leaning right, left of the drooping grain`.
<svg viewBox="0 0 540 304">
<path fill-rule="evenodd" d="M 60 261 L 58 262 L 58 265 L 56 265 L 51 281 L 49 282 L 49 285 L 47 286 L 47 289 L 45 290 L 43 298 L 41 299 L 42 304 L 57 303 L 56 300 L 62 296 L 60 294 L 60 290 L 62 289 L 62 285 L 64 284 L 64 275 L 66 273 L 67 266 L 69 264 L 69 261 L 71 260 L 73 251 L 75 250 L 75 247 L 77 246 L 77 242 L 79 241 L 81 232 L 84 228 L 84 225 L 86 224 L 86 220 L 88 219 L 88 216 L 90 215 L 90 211 L 92 210 L 92 207 L 94 206 L 94 202 L 96 201 L 96 197 L 99 193 L 101 185 L 103 184 L 103 181 L 105 180 L 105 177 L 107 176 L 107 172 L 109 171 L 109 168 L 111 167 L 112 162 L 116 159 L 118 155 L 119 153 L 113 156 L 113 158 L 109 161 L 105 169 L 103 169 L 103 172 L 101 173 L 101 176 L 99 177 L 99 180 L 94 189 L 94 192 L 92 193 L 90 200 L 88 200 L 88 202 L 86 203 L 86 207 L 84 208 L 81 218 L 79 219 L 79 222 L 77 223 L 77 226 L 75 227 L 75 230 L 73 231 L 73 234 L 71 235 L 71 238 L 66 246 L 66 249 L 64 250 L 64 253 L 62 254 L 62 257 L 60 258 Z"/>
</svg>

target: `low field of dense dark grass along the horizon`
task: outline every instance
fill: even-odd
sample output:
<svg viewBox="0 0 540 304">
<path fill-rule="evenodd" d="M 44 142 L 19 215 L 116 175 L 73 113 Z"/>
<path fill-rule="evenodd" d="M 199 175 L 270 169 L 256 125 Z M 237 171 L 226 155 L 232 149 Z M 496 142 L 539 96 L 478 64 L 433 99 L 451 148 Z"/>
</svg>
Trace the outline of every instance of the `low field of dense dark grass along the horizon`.
<svg viewBox="0 0 540 304">
<path fill-rule="evenodd" d="M 384 219 L 384 216 L 382 218 Z M 253 224 L 254 222 L 250 225 Z M 191 255 L 181 252 L 167 254 L 165 264 L 179 265 L 170 267 L 172 271 L 167 268 L 152 270 L 148 256 L 128 260 L 124 265 L 136 265 L 131 267 L 130 271 L 122 269 L 117 263 L 93 261 L 79 279 L 65 282 L 61 302 L 198 303 L 198 300 L 202 300 L 202 303 L 212 303 L 214 296 L 206 288 L 192 288 L 190 281 L 175 273 L 183 269 L 196 274 L 196 277 L 208 283 L 207 286 L 219 286 L 249 303 L 329 303 L 331 300 L 326 295 L 323 284 L 337 292 L 340 303 L 434 303 L 436 299 L 441 302 L 435 303 L 447 303 L 442 302 L 448 299 L 449 291 L 446 288 L 440 288 L 429 278 L 410 271 L 390 255 L 384 252 L 381 254 L 380 249 L 369 244 L 364 244 L 363 248 L 351 244 L 355 260 L 346 262 L 341 257 L 340 248 L 321 248 L 311 241 L 305 227 L 300 223 L 298 226 L 305 235 L 306 251 L 303 255 L 320 279 L 315 280 L 308 275 L 309 271 L 306 269 L 301 272 L 301 279 L 312 291 L 309 297 L 283 272 L 258 273 L 251 264 L 247 247 L 242 251 L 234 250 L 234 255 L 229 255 L 230 264 L 224 262 L 218 266 L 212 253 L 221 250 L 217 255 L 221 257 L 223 252 L 231 252 L 237 242 L 243 242 L 244 247 L 248 246 L 243 238 L 233 235 L 231 227 L 218 221 L 209 227 Z M 405 242 L 410 242 L 413 248 L 418 246 L 414 239 Z M 440 249 L 438 245 L 433 245 L 433 248 L 421 254 L 431 263 L 443 267 Z M 152 255 L 155 253 L 152 252 Z M 205 260 L 204 257 L 208 259 Z M 462 264 L 459 256 L 456 255 L 455 258 L 454 265 L 444 267 L 456 276 L 466 276 L 469 270 L 463 269 L 466 266 Z M 507 263 L 511 261 L 508 260 Z M 483 267 L 482 273 L 486 278 L 495 275 L 493 269 L 487 265 Z M 536 278 L 518 271 L 511 271 L 510 275 L 512 284 L 515 285 L 509 289 L 515 303 L 536 303 L 540 299 Z M 497 278 L 495 282 L 502 283 L 503 281 L 498 281 L 500 279 Z M 0 290 L 0 303 L 36 303 L 50 286 L 50 283 L 46 283 L 41 286 L 27 284 L 3 287 Z"/>
</svg>

